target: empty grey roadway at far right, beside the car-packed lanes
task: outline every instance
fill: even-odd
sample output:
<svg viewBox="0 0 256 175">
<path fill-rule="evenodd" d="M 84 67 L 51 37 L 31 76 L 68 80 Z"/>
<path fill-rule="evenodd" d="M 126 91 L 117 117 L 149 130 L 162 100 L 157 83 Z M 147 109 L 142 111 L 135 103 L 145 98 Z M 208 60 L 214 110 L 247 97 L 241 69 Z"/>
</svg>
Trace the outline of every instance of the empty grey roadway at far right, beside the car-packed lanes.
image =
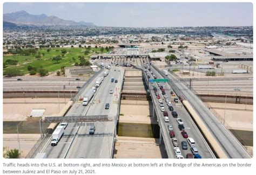
<svg viewBox="0 0 256 175">
<path fill-rule="evenodd" d="M 178 95 L 183 95 L 198 115 L 204 121 L 206 127 L 211 131 L 219 146 L 223 148 L 229 158 L 251 158 L 240 142 L 224 127 L 222 123 L 213 115 L 206 105 L 195 94 L 188 89 L 182 82 L 177 81 L 177 78 L 169 73 L 167 78 L 170 80 L 170 85 L 174 88 Z"/>
</svg>

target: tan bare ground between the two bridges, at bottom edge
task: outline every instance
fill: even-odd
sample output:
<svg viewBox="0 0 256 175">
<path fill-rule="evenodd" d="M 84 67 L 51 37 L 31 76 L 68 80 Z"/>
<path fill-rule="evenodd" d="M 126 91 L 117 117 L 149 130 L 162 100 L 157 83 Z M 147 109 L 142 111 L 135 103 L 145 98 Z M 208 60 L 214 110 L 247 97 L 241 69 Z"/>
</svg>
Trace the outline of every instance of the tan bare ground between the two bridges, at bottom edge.
<svg viewBox="0 0 256 175">
<path fill-rule="evenodd" d="M 118 137 L 114 158 L 167 158 L 159 139 Z"/>
</svg>

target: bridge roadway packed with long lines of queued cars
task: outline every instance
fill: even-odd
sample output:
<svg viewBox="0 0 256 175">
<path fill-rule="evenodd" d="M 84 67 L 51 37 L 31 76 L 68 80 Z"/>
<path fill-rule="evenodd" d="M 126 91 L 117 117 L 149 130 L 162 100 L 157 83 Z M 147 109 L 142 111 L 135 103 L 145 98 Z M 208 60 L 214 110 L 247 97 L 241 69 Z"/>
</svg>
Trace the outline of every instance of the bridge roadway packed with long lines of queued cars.
<svg viewBox="0 0 256 175">
<path fill-rule="evenodd" d="M 150 72 L 148 70 L 146 71 L 146 73 L 150 75 L 150 79 L 153 79 L 153 76 L 150 74 Z M 157 71 L 153 70 L 153 74 L 157 76 L 157 79 L 162 79 L 161 75 Z M 163 133 L 162 136 L 165 137 L 164 138 L 165 146 L 170 147 L 170 148 L 166 148 L 166 150 L 167 149 L 171 150 L 169 158 L 175 158 L 175 154 L 174 154 L 174 151 L 173 151 L 174 146 L 173 146 L 171 138 L 169 136 L 169 130 L 167 129 L 167 125 L 170 125 L 170 124 L 173 127 L 175 137 L 178 139 L 178 144 L 179 144 L 181 154 L 185 158 L 187 153 L 192 153 L 190 151 L 190 146 L 187 145 L 187 148 L 188 148 L 187 150 L 183 150 L 181 148 L 181 142 L 182 141 L 187 142 L 186 138 L 184 138 L 181 135 L 181 133 L 180 133 L 181 131 L 178 128 L 177 118 L 174 118 L 172 116 L 171 111 L 169 110 L 165 101 L 163 102 L 164 103 L 164 108 L 165 108 L 165 111 L 167 111 L 167 113 L 169 115 L 170 122 L 165 122 L 164 121 L 163 112 L 160 111 L 159 102 L 158 102 L 158 99 L 157 99 L 156 95 L 154 94 L 154 90 L 153 90 L 152 85 L 154 85 L 154 87 L 157 87 L 160 98 L 163 99 L 163 101 L 164 101 L 164 96 L 160 93 L 161 90 L 157 86 L 157 83 L 149 83 L 149 89 L 151 91 L 152 101 L 153 101 L 153 104 L 154 104 L 154 108 L 156 109 L 156 114 L 158 116 L 159 126 L 161 128 L 161 132 Z M 187 113 L 187 111 L 183 107 L 183 104 L 181 104 L 180 101 L 178 103 L 175 103 L 173 101 L 174 97 L 177 97 L 177 96 L 171 96 L 171 91 L 172 91 L 171 87 L 168 85 L 168 83 L 160 83 L 160 85 L 164 86 L 166 95 L 168 96 L 169 100 L 172 101 L 174 111 L 177 111 L 177 113 L 178 113 L 178 118 L 181 118 L 183 120 L 185 131 L 187 132 L 188 137 L 192 137 L 195 140 L 196 147 L 198 148 L 199 154 L 201 155 L 201 157 L 202 158 L 214 158 L 213 152 L 211 151 L 211 149 L 207 145 L 204 137 L 201 135 L 200 131 L 198 130 L 198 128 L 196 127 L 196 125 L 192 121 L 190 115 Z"/>
</svg>

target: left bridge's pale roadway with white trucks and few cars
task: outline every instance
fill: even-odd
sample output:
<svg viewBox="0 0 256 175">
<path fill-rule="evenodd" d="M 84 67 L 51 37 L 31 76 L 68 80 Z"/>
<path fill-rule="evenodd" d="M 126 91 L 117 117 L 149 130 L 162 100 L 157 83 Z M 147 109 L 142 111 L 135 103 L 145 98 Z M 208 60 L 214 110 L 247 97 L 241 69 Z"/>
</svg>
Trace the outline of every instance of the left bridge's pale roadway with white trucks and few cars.
<svg viewBox="0 0 256 175">
<path fill-rule="evenodd" d="M 98 77 L 103 74 L 104 72 L 100 73 Z M 114 119 L 117 115 L 117 101 L 123 74 L 122 68 L 111 68 L 109 75 L 97 89 L 90 104 L 82 106 L 82 102 L 77 101 L 66 116 L 109 115 Z M 112 77 L 117 79 L 118 83 L 111 83 Z M 86 87 L 81 96 L 86 93 L 86 90 L 95 86 L 96 79 Z M 113 94 L 109 94 L 110 88 L 113 88 Z M 105 110 L 105 103 L 110 103 L 109 110 Z M 69 123 L 59 143 L 56 146 L 51 146 L 49 139 L 41 152 L 46 152 L 48 158 L 111 158 L 115 121 L 95 122 L 94 124 L 96 126 L 95 135 L 89 135 L 89 127 L 86 124 Z M 108 150 L 106 150 L 106 145 L 109 145 Z"/>
</svg>

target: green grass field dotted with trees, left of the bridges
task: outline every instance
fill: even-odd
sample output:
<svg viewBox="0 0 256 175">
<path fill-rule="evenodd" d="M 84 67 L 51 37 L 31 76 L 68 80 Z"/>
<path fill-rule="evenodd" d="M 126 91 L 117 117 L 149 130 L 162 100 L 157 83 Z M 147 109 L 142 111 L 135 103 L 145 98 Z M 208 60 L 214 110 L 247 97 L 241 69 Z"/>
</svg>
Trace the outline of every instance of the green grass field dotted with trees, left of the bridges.
<svg viewBox="0 0 256 175">
<path fill-rule="evenodd" d="M 107 51 L 104 49 L 103 52 L 100 52 L 100 48 L 91 48 L 90 53 L 85 55 L 84 52 L 86 51 L 86 48 L 51 48 L 50 52 L 47 52 L 48 48 L 41 48 L 37 50 L 37 53 L 40 52 L 42 57 L 36 58 L 36 54 L 31 54 L 29 56 L 25 55 L 4 55 L 3 61 L 6 60 L 18 60 L 17 65 L 10 65 L 6 64 L 6 66 L 3 68 L 3 72 L 5 72 L 8 69 L 17 68 L 19 71 L 23 72 L 24 74 L 29 73 L 28 66 L 36 67 L 37 69 L 43 67 L 47 69 L 49 72 L 56 71 L 60 69 L 62 66 L 72 66 L 75 64 L 75 62 L 79 63 L 78 56 L 84 56 L 85 58 L 89 59 L 90 55 L 98 53 L 106 53 Z M 67 53 L 62 57 L 62 60 L 60 60 L 58 63 L 55 61 L 52 61 L 53 57 L 56 57 L 58 55 L 62 54 L 62 50 L 66 50 Z M 72 58 L 75 58 L 73 60 Z"/>
</svg>

